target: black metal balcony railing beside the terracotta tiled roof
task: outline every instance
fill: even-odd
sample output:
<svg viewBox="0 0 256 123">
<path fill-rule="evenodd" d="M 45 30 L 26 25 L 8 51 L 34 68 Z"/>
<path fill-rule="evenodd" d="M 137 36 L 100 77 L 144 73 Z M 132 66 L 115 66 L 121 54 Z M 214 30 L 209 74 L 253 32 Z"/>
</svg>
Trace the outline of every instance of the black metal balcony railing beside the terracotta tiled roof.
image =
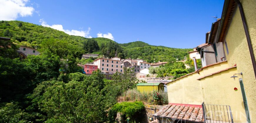
<svg viewBox="0 0 256 123">
<path fill-rule="evenodd" d="M 234 123 L 229 105 L 202 103 L 205 123 Z"/>
</svg>

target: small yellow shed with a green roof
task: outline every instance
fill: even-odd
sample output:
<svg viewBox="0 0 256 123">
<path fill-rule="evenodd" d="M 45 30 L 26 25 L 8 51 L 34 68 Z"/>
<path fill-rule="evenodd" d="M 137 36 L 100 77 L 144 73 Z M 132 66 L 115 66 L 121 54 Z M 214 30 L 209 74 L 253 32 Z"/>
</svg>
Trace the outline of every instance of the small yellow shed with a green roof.
<svg viewBox="0 0 256 123">
<path fill-rule="evenodd" d="M 151 91 L 159 91 L 160 89 L 164 90 L 163 83 L 138 83 L 137 89 L 140 93 L 149 93 Z"/>
</svg>

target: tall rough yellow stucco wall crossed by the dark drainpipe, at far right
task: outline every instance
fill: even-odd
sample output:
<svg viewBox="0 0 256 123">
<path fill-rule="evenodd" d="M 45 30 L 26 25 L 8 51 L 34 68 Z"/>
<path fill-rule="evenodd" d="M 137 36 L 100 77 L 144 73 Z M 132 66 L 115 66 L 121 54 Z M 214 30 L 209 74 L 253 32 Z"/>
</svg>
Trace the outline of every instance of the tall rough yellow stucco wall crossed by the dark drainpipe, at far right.
<svg viewBox="0 0 256 123">
<path fill-rule="evenodd" d="M 250 38 L 256 54 L 256 2 L 255 0 L 242 0 L 245 18 L 249 28 Z M 224 44 L 225 54 L 229 66 L 237 64 L 238 73 L 243 73 L 243 83 L 247 97 L 247 104 L 251 122 L 256 122 L 256 80 L 252 67 L 252 60 L 243 28 L 240 11 L 237 7 L 227 31 L 226 42 L 229 50 Z M 256 56 L 255 56 L 256 57 Z"/>
</svg>

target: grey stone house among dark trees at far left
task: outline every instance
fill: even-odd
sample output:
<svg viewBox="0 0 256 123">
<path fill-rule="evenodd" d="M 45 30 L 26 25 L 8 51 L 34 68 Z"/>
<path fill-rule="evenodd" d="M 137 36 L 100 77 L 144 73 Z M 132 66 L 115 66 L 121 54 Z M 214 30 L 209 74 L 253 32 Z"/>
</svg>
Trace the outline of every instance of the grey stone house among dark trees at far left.
<svg viewBox="0 0 256 123">
<path fill-rule="evenodd" d="M 28 55 L 39 55 L 39 52 L 36 49 L 21 45 L 19 45 L 19 49 L 17 52 L 19 53 L 20 56 L 24 58 L 26 58 Z"/>
</svg>

